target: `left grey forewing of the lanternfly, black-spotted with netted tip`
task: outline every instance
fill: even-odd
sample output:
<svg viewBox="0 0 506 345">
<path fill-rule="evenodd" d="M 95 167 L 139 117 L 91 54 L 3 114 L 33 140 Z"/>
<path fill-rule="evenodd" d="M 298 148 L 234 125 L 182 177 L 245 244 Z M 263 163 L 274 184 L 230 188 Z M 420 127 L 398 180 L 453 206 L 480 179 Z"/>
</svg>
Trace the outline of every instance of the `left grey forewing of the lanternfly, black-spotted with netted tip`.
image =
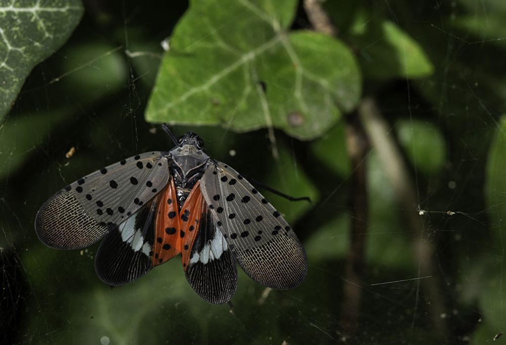
<svg viewBox="0 0 506 345">
<path fill-rule="evenodd" d="M 71 183 L 37 212 L 37 236 L 58 249 L 80 249 L 95 243 L 167 184 L 169 159 L 166 152 L 147 152 Z"/>
</svg>

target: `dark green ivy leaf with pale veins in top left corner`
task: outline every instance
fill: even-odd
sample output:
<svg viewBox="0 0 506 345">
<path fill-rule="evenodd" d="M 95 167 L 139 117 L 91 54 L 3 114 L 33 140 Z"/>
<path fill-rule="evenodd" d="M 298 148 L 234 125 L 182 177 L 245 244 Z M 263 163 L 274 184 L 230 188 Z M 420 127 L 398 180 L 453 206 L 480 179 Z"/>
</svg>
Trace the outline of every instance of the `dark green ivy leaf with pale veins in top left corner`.
<svg viewBox="0 0 506 345">
<path fill-rule="evenodd" d="M 32 68 L 67 40 L 81 15 L 79 0 L 0 0 L 0 120 Z"/>
</svg>

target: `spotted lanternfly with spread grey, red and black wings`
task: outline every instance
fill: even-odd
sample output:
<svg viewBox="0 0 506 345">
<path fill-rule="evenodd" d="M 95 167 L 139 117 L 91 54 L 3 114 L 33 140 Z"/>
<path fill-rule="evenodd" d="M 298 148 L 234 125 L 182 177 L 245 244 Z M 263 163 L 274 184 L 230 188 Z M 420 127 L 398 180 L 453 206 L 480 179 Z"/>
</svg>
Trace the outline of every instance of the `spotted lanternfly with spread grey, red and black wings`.
<svg viewBox="0 0 506 345">
<path fill-rule="evenodd" d="M 188 132 L 169 152 L 147 152 L 82 177 L 54 194 L 35 218 L 39 239 L 82 249 L 104 238 L 95 269 L 124 285 L 181 254 L 186 278 L 205 301 L 228 302 L 236 262 L 251 279 L 288 289 L 308 264 L 297 235 L 234 169 L 210 158 Z"/>
</svg>

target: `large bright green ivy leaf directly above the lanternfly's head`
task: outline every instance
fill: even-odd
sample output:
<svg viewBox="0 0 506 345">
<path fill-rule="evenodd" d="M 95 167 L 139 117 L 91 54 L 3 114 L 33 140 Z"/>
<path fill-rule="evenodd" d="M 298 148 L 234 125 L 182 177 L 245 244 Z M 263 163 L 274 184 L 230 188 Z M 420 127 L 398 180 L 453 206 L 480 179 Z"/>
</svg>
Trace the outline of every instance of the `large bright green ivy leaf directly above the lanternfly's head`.
<svg viewBox="0 0 506 345">
<path fill-rule="evenodd" d="M 361 78 L 342 42 L 287 31 L 297 1 L 192 2 L 171 38 L 146 119 L 276 127 L 317 137 L 355 107 Z M 336 107 L 337 106 L 337 107 Z"/>
</svg>

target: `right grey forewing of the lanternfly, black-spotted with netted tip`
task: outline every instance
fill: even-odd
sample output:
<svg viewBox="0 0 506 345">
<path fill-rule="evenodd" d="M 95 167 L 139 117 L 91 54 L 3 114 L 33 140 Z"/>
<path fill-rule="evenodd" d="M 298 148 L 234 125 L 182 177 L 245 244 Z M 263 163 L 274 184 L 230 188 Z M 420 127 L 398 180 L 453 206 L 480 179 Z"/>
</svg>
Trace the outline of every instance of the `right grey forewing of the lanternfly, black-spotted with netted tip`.
<svg viewBox="0 0 506 345">
<path fill-rule="evenodd" d="M 297 235 L 263 195 L 234 169 L 210 162 L 202 195 L 244 272 L 275 289 L 298 286 L 306 277 L 306 252 Z"/>
</svg>

